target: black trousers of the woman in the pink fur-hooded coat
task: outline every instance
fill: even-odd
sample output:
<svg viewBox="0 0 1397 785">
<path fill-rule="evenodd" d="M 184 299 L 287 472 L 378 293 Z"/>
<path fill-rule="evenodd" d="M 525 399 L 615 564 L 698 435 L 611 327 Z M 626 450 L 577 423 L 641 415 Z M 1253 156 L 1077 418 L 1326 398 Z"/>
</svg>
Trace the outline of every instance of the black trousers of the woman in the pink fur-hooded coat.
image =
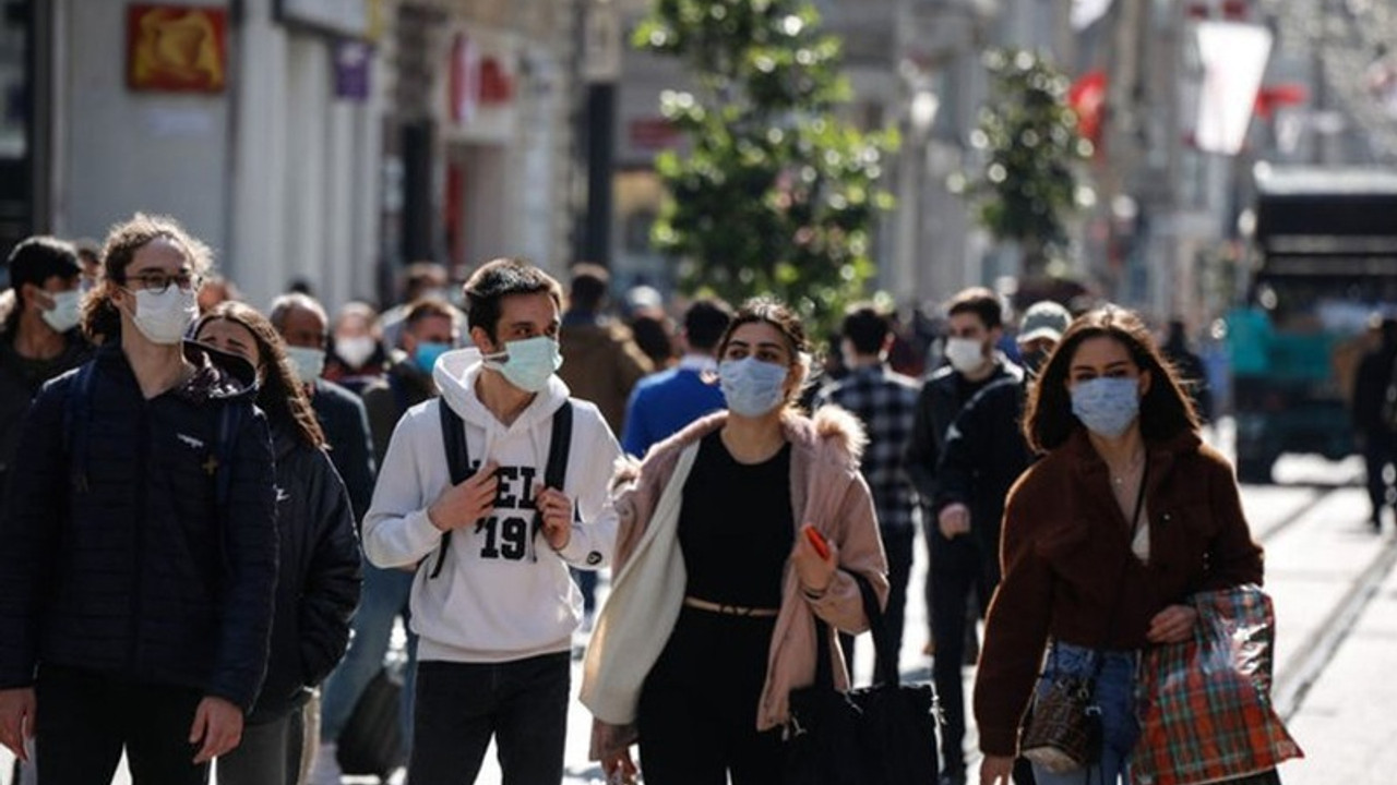
<svg viewBox="0 0 1397 785">
<path fill-rule="evenodd" d="M 685 608 L 640 693 L 645 785 L 781 785 L 781 731 L 757 732 L 775 619 Z M 416 785 L 416 784 L 414 784 Z"/>
</svg>

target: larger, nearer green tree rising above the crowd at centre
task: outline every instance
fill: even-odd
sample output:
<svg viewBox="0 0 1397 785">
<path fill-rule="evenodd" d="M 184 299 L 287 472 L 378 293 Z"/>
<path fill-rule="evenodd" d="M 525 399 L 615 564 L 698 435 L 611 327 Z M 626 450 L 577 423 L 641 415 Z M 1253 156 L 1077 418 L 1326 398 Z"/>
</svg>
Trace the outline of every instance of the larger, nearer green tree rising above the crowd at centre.
<svg viewBox="0 0 1397 785">
<path fill-rule="evenodd" d="M 893 131 L 837 117 L 849 99 L 840 42 L 803 0 L 657 0 L 634 45 L 682 59 L 694 92 L 666 91 L 689 141 L 657 159 L 668 198 L 654 226 L 686 292 L 774 293 L 824 328 L 865 295 L 870 229 Z"/>
</svg>

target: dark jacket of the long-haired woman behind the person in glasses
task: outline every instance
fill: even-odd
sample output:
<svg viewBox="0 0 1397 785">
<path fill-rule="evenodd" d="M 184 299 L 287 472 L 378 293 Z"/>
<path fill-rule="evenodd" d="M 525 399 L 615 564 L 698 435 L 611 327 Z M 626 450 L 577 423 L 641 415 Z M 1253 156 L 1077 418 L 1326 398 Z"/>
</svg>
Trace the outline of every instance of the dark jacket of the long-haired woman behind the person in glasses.
<svg viewBox="0 0 1397 785">
<path fill-rule="evenodd" d="M 359 603 L 359 538 L 345 483 L 324 450 L 289 430 L 274 426 L 272 443 L 279 578 L 267 682 L 250 725 L 281 719 L 306 703 L 344 656 Z"/>
</svg>

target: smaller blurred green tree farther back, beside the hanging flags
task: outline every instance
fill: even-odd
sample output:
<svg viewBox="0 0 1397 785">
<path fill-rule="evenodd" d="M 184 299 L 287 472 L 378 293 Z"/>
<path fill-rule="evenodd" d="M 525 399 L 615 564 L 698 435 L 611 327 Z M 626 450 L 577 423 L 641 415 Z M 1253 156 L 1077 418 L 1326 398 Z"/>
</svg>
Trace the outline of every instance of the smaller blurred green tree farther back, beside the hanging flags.
<svg viewBox="0 0 1397 785">
<path fill-rule="evenodd" d="M 1091 156 L 1091 142 L 1077 133 L 1077 115 L 1067 106 L 1067 77 L 1042 57 L 992 50 L 985 66 L 990 101 L 971 134 L 985 152 L 985 169 L 968 196 L 996 240 L 1018 243 L 1024 279 L 1042 281 L 1067 244 L 1077 168 Z"/>
</svg>

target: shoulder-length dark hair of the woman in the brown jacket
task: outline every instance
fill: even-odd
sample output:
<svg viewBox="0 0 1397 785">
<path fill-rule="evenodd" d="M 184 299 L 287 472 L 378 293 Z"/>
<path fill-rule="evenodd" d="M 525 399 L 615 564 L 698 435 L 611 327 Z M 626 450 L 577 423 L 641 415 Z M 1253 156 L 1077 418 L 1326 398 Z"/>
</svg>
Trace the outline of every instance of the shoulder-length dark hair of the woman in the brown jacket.
<svg viewBox="0 0 1397 785">
<path fill-rule="evenodd" d="M 1146 441 L 1162 441 L 1183 432 L 1199 430 L 1193 401 L 1185 394 L 1178 372 L 1160 353 L 1144 321 L 1130 310 L 1105 306 L 1078 316 L 1067 327 L 1032 386 L 1024 416 L 1024 436 L 1034 451 L 1055 450 L 1067 441 L 1073 430 L 1083 427 L 1071 413 L 1067 376 L 1077 348 L 1090 338 L 1116 341 L 1126 348 L 1141 372 L 1150 373 L 1150 390 L 1140 398 L 1140 434 Z"/>
</svg>

